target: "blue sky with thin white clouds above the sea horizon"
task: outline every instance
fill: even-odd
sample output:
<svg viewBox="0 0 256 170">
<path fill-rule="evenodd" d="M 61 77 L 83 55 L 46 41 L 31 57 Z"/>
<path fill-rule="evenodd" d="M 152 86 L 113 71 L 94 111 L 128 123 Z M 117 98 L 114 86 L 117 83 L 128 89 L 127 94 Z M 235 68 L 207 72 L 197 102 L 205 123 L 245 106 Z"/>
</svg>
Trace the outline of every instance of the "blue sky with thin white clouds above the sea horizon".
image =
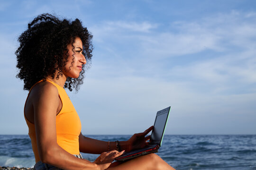
<svg viewBox="0 0 256 170">
<path fill-rule="evenodd" d="M 1 0 L 0 134 L 27 134 L 17 38 L 34 17 L 79 18 L 93 58 L 68 93 L 82 133 L 133 134 L 171 106 L 166 134 L 256 134 L 256 1 Z"/>
</svg>

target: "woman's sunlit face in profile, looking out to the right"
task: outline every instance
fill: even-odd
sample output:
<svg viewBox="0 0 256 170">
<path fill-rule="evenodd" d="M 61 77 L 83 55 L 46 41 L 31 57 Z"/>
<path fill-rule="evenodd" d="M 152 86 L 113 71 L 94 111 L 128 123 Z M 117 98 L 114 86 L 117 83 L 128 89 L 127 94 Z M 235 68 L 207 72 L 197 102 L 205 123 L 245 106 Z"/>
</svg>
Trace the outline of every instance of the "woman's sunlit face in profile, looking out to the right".
<svg viewBox="0 0 256 170">
<path fill-rule="evenodd" d="M 62 72 L 66 77 L 77 78 L 82 71 L 82 65 L 86 64 L 86 59 L 82 54 L 82 41 L 79 37 L 75 38 L 73 46 L 75 52 L 74 54 L 72 51 L 72 44 L 67 46 L 69 57 Z"/>
</svg>

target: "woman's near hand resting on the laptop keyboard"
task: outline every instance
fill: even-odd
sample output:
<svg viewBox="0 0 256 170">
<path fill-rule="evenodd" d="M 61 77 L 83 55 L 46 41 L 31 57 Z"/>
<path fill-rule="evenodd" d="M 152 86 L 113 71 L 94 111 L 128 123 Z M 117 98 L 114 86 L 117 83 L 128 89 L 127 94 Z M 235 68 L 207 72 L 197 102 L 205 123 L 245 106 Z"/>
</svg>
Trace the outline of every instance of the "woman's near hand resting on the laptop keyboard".
<svg viewBox="0 0 256 170">
<path fill-rule="evenodd" d="M 123 153 L 124 151 L 118 152 L 116 150 L 103 152 L 93 163 L 96 163 L 100 167 L 100 170 L 106 170 L 109 168 L 111 162 Z"/>
</svg>

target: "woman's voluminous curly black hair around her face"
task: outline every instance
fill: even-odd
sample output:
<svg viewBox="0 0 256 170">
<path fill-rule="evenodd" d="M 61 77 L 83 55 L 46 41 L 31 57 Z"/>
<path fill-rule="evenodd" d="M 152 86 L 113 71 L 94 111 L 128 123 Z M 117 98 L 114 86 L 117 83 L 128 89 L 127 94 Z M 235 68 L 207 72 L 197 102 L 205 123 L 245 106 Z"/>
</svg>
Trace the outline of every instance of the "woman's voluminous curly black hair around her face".
<svg viewBox="0 0 256 170">
<path fill-rule="evenodd" d="M 57 79 L 63 76 L 65 63 L 69 53 L 67 45 L 74 43 L 75 38 L 82 40 L 83 51 L 87 63 L 91 61 L 93 46 L 92 35 L 86 27 L 82 26 L 79 19 L 73 21 L 59 18 L 51 14 L 41 14 L 28 24 L 27 30 L 18 37 L 20 43 L 17 56 L 17 78 L 23 79 L 24 90 L 29 90 L 35 83 L 46 79 L 47 76 L 54 78 L 57 72 Z M 73 45 L 72 45 L 73 46 Z M 73 46 L 74 52 L 74 46 Z M 74 57 L 74 53 L 73 53 Z M 88 64 L 87 68 L 88 68 Z M 84 65 L 78 78 L 68 77 L 64 87 L 72 91 L 79 90 L 82 85 Z"/>
</svg>

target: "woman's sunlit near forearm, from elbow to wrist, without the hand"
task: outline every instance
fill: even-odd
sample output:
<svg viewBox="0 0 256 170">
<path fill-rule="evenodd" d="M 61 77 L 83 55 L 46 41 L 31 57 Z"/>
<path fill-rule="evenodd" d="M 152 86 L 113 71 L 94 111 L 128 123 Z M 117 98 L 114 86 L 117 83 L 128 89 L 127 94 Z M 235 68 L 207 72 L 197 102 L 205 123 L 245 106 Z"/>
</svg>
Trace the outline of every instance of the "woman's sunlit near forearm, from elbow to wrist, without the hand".
<svg viewBox="0 0 256 170">
<path fill-rule="evenodd" d="M 64 170 L 98 170 L 96 163 L 80 159 L 66 152 L 60 146 L 47 148 L 40 154 L 41 161 Z"/>
</svg>

